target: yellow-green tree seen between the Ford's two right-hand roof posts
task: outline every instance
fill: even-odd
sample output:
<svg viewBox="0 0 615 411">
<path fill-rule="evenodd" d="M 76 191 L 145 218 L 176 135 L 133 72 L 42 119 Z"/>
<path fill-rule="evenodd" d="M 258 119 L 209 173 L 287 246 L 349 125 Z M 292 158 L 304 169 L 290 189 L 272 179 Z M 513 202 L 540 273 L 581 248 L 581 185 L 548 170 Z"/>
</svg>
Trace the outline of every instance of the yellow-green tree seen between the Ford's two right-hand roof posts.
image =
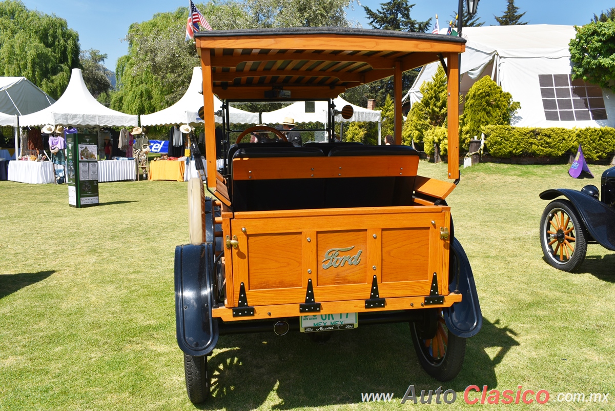
<svg viewBox="0 0 615 411">
<path fill-rule="evenodd" d="M 441 127 L 446 125 L 448 114 L 448 82 L 446 73 L 441 65 L 435 72 L 431 81 L 426 81 L 419 87 L 419 92 L 423 95 L 420 102 L 415 103 L 406 118 L 402 130 L 402 141 L 410 145 L 423 142 L 425 132 L 431 127 Z"/>
</svg>

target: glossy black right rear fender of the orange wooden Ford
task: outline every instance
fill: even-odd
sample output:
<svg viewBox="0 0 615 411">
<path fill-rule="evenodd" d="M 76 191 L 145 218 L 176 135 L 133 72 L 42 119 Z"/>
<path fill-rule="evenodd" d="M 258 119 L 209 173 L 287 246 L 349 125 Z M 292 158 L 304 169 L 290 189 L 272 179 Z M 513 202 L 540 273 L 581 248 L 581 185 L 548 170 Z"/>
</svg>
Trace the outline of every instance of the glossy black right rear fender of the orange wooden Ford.
<svg viewBox="0 0 615 411">
<path fill-rule="evenodd" d="M 483 326 L 483 314 L 478 303 L 478 293 L 474 284 L 474 275 L 470 261 L 467 259 L 458 239 L 453 237 L 451 241 L 451 252 L 454 258 L 451 259 L 451 269 L 449 277 L 449 292 L 454 292 L 458 287 L 462 295 L 459 303 L 443 309 L 446 327 L 451 333 L 458 337 L 469 338 L 476 335 Z M 459 269 L 459 273 L 457 270 Z M 457 285 L 457 274 L 459 274 L 459 284 Z M 452 277 L 454 276 L 454 277 Z"/>
</svg>

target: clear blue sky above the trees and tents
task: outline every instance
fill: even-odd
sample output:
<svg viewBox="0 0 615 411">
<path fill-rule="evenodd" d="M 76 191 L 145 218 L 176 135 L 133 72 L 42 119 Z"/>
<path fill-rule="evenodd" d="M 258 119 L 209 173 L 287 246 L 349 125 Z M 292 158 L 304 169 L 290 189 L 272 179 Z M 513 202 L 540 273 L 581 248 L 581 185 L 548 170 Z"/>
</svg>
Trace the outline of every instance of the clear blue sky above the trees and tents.
<svg viewBox="0 0 615 411">
<path fill-rule="evenodd" d="M 465 1 L 465 0 L 464 0 Z M 155 13 L 176 10 L 188 6 L 188 0 L 23 0 L 28 9 L 65 18 L 68 26 L 79 33 L 81 49 L 98 49 L 108 55 L 105 65 L 115 70 L 117 58 L 126 54 L 127 44 L 121 39 L 129 26 L 135 22 L 149 20 Z M 198 0 L 196 2 L 205 2 Z M 383 0 L 360 0 L 360 4 L 377 10 Z M 411 16 L 416 20 L 427 20 L 438 14 L 440 26 L 450 20 L 458 2 L 454 0 L 409 0 L 415 3 Z M 496 25 L 493 15 L 502 15 L 506 0 L 481 0 L 478 16 L 486 25 Z M 615 7 L 613 0 L 516 0 L 520 12 L 526 12 L 523 20 L 530 24 L 583 25 L 589 23 L 593 14 Z M 369 28 L 365 11 L 357 0 L 347 10 L 351 20 Z M 187 16 L 186 16 L 187 17 Z"/>
</svg>

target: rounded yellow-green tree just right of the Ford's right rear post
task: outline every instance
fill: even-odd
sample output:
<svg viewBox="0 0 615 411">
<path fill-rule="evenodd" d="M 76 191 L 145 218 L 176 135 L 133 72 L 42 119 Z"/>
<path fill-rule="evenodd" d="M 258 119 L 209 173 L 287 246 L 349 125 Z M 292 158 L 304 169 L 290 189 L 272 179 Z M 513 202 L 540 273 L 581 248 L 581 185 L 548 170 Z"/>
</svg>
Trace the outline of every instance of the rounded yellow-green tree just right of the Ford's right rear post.
<svg viewBox="0 0 615 411">
<path fill-rule="evenodd" d="M 470 140 L 480 137 L 482 126 L 510 126 L 520 108 L 520 103 L 512 101 L 512 94 L 504 92 L 489 76 L 475 82 L 466 95 L 462 147 L 467 150 Z"/>
</svg>

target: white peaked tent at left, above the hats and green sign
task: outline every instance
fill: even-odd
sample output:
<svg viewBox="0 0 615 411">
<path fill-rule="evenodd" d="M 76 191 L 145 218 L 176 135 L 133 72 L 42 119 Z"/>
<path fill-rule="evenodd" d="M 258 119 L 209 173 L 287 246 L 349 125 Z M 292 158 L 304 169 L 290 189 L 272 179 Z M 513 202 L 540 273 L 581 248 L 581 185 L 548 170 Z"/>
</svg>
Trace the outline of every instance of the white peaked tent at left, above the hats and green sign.
<svg viewBox="0 0 615 411">
<path fill-rule="evenodd" d="M 138 117 L 101 105 L 90 94 L 81 70 L 73 68 L 68 87 L 53 105 L 36 113 L 19 116 L 21 127 L 62 124 L 73 127 L 129 127 L 138 125 Z"/>
</svg>

